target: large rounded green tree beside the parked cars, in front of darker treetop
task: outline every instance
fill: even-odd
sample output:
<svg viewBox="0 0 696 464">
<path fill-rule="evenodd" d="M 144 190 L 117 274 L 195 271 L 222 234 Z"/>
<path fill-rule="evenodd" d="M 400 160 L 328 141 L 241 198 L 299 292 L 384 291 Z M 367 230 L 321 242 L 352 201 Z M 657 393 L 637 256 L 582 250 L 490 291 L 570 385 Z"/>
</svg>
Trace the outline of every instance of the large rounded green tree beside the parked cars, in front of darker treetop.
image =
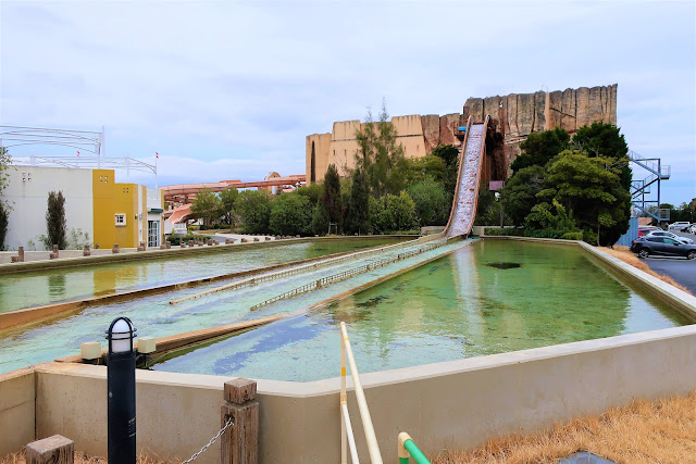
<svg viewBox="0 0 696 464">
<path fill-rule="evenodd" d="M 537 198 L 556 199 L 585 231 L 586 239 L 611 246 L 629 229 L 631 196 L 613 159 L 566 150 L 548 165 Z"/>
</svg>

